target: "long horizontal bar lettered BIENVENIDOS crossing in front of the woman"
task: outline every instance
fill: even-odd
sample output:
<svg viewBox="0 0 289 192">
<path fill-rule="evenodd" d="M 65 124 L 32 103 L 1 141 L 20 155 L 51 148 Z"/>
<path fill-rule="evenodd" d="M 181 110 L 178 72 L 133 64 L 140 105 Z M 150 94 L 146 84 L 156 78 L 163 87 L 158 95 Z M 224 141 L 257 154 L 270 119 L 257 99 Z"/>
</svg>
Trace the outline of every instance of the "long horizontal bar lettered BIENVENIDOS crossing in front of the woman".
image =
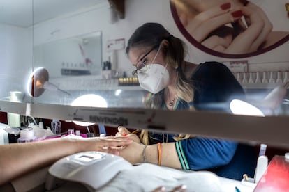
<svg viewBox="0 0 289 192">
<path fill-rule="evenodd" d="M 94 108 L 5 101 L 0 101 L 0 109 L 3 112 L 20 113 L 35 118 L 80 120 L 112 127 L 124 125 L 132 129 L 230 138 L 244 142 L 257 141 L 271 146 L 289 146 L 288 116 L 253 117 L 228 113 Z M 181 126 L 179 122 L 181 122 Z"/>
</svg>

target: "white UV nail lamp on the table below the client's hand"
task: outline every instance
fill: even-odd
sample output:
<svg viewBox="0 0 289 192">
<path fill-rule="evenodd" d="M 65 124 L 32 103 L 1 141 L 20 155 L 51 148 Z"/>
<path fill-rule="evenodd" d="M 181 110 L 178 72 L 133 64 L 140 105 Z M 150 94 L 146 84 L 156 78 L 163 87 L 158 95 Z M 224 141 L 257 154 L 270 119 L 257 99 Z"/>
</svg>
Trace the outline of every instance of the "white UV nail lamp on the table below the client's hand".
<svg viewBox="0 0 289 192">
<path fill-rule="evenodd" d="M 96 191 L 110 182 L 119 171 L 132 167 L 122 157 L 105 152 L 72 154 L 49 168 L 45 189 L 57 189 L 68 181 L 83 184 L 88 191 Z"/>
</svg>

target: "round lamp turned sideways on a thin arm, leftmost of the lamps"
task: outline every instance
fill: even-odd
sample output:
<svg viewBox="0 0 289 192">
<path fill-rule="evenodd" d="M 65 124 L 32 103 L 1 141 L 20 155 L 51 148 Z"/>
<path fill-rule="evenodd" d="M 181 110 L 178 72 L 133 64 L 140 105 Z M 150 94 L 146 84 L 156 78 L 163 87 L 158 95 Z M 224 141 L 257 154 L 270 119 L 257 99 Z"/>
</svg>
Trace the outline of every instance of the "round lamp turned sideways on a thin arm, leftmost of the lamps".
<svg viewBox="0 0 289 192">
<path fill-rule="evenodd" d="M 54 84 L 49 81 L 48 71 L 44 67 L 39 67 L 34 72 L 32 72 L 29 76 L 27 82 L 27 93 L 30 97 L 39 97 L 43 94 L 45 89 L 61 91 L 62 93 L 66 93 L 67 95 L 71 95 L 64 90 L 59 89 Z"/>
</svg>

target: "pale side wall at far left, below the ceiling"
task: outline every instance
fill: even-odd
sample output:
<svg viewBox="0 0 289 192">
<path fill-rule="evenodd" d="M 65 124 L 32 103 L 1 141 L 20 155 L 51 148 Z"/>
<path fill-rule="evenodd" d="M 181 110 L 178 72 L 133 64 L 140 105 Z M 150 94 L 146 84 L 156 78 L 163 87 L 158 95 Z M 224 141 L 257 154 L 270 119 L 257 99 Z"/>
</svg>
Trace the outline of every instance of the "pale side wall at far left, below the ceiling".
<svg viewBox="0 0 289 192">
<path fill-rule="evenodd" d="M 32 33 L 30 29 L 0 24 L 0 97 L 10 91 L 24 92 L 24 79 L 32 67 Z"/>
</svg>

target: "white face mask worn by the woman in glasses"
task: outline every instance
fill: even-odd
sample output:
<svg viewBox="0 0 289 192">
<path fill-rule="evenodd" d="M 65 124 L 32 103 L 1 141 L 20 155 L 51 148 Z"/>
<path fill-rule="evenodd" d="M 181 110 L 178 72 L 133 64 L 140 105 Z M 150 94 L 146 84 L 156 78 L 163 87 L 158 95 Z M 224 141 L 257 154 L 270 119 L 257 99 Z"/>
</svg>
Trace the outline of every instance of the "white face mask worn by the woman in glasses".
<svg viewBox="0 0 289 192">
<path fill-rule="evenodd" d="M 140 87 L 154 94 L 167 87 L 170 77 L 167 66 L 168 64 L 165 67 L 160 64 L 150 64 L 146 71 L 138 72 Z"/>
</svg>

